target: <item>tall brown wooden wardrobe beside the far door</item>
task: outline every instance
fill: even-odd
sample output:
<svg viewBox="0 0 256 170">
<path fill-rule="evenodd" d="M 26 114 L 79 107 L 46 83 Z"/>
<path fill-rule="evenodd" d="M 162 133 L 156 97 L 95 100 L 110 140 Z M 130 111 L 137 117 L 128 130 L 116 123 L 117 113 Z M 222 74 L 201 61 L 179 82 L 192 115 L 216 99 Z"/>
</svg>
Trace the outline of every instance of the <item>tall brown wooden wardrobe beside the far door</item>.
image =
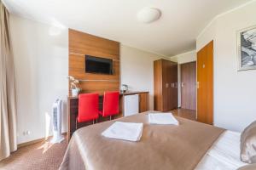
<svg viewBox="0 0 256 170">
<path fill-rule="evenodd" d="M 177 109 L 177 63 L 154 61 L 154 111 Z"/>
</svg>

